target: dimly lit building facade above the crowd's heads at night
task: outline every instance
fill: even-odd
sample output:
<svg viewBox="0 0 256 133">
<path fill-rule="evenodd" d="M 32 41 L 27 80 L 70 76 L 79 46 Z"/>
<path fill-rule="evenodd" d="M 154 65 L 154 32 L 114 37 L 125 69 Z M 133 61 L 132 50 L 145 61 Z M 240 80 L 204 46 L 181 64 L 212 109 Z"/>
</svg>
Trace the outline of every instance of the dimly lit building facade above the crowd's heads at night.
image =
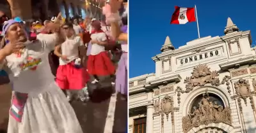
<svg viewBox="0 0 256 133">
<path fill-rule="evenodd" d="M 96 0 L 3 0 L 0 1 L 1 10 L 9 17 L 22 17 L 24 20 L 49 17 L 62 13 L 65 18 L 86 15 L 102 17 L 103 4 Z"/>
</svg>

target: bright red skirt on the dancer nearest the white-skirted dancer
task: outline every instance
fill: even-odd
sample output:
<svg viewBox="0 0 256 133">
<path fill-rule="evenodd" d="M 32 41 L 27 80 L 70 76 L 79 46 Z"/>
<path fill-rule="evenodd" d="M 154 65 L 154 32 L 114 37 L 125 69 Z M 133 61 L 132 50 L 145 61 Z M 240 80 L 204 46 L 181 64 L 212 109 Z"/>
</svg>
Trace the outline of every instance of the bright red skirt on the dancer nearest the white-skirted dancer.
<svg viewBox="0 0 256 133">
<path fill-rule="evenodd" d="M 89 80 L 84 68 L 76 68 L 74 61 L 61 65 L 57 69 L 56 83 L 61 89 L 80 90 L 85 87 Z"/>
</svg>

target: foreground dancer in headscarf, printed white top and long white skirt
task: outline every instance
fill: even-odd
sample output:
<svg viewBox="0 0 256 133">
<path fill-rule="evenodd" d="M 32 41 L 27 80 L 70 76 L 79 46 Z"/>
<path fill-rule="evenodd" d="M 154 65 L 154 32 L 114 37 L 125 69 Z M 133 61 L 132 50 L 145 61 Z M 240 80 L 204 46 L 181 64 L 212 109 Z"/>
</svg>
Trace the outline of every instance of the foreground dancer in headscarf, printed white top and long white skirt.
<svg viewBox="0 0 256 133">
<path fill-rule="evenodd" d="M 38 34 L 28 41 L 24 27 L 8 20 L 3 34 L 9 41 L 0 50 L 1 68 L 10 69 L 13 84 L 8 133 L 82 133 L 67 98 L 54 82 L 47 55 L 55 44 L 65 41 L 58 24 L 54 34 Z"/>
</svg>

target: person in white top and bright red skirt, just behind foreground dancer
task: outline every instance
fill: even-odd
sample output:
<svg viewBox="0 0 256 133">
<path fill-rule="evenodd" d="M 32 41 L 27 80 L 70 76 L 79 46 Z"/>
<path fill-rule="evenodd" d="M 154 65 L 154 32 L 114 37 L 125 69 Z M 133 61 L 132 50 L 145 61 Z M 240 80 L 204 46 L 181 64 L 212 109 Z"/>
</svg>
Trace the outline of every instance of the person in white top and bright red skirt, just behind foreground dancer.
<svg viewBox="0 0 256 133">
<path fill-rule="evenodd" d="M 60 57 L 60 66 L 57 69 L 56 83 L 58 83 L 59 87 L 66 93 L 68 101 L 74 98 L 72 92 L 77 92 L 77 90 L 79 92 L 77 96 L 81 101 L 85 101 L 86 98 L 85 95 L 82 95 L 82 88 L 85 87 L 87 79 L 84 79 L 84 77 L 86 77 L 84 76 L 85 70 L 81 64 L 81 60 L 83 60 L 81 58 L 85 55 L 85 48 L 82 39 L 80 36 L 76 35 L 73 26 L 73 24 L 63 25 L 67 39 L 61 45 L 57 45 L 54 50 L 54 54 Z M 81 55 L 80 58 L 79 53 Z"/>
</svg>

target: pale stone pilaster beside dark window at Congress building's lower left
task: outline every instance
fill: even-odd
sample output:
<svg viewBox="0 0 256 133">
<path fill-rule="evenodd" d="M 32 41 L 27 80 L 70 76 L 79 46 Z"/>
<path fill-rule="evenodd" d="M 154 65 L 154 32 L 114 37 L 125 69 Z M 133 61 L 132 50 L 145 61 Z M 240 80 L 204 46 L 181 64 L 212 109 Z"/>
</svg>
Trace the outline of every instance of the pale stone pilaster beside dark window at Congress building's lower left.
<svg viewBox="0 0 256 133">
<path fill-rule="evenodd" d="M 153 133 L 153 113 L 154 106 L 153 103 L 147 104 L 147 125 L 146 125 L 146 133 Z"/>
</svg>

